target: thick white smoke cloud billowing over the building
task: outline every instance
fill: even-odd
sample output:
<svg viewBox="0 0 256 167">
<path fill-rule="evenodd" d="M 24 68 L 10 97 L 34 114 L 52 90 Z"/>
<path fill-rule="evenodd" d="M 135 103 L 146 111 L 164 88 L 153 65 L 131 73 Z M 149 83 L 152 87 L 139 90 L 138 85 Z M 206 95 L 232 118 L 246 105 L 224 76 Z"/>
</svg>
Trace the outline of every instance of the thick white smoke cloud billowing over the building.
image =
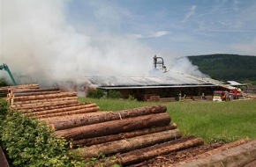
<svg viewBox="0 0 256 167">
<path fill-rule="evenodd" d="M 31 82 L 22 81 L 21 76 L 51 84 L 62 80 L 85 82 L 86 75 L 148 75 L 153 67 L 152 48 L 127 35 L 78 32 L 66 17 L 69 3 L 1 0 L 0 62 L 20 76 L 23 83 L 19 84 Z M 93 29 L 87 23 L 83 26 Z M 181 65 L 170 66 L 192 71 L 187 60 L 178 63 Z"/>
</svg>

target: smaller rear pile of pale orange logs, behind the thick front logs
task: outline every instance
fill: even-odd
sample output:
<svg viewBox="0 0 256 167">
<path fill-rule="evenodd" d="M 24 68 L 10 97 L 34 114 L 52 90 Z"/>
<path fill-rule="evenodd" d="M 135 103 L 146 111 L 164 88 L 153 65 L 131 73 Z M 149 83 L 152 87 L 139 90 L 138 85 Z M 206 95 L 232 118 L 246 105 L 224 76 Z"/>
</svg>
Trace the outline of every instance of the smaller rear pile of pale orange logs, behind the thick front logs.
<svg viewBox="0 0 256 167">
<path fill-rule="evenodd" d="M 8 89 L 7 99 L 12 109 L 36 119 L 100 110 L 96 104 L 79 104 L 76 92 L 61 92 L 58 88 L 13 86 Z"/>
</svg>

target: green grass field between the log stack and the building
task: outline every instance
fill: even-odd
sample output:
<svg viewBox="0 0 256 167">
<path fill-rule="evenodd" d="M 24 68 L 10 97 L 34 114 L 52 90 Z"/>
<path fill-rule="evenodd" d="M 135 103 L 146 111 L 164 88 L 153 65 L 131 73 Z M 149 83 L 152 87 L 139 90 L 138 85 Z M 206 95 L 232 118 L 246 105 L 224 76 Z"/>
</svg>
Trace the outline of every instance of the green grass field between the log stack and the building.
<svg viewBox="0 0 256 167">
<path fill-rule="evenodd" d="M 184 135 L 202 137 L 205 142 L 233 142 L 256 139 L 256 101 L 152 103 L 118 99 L 79 98 L 101 111 L 119 111 L 140 106 L 166 105 L 171 121 Z"/>
</svg>

